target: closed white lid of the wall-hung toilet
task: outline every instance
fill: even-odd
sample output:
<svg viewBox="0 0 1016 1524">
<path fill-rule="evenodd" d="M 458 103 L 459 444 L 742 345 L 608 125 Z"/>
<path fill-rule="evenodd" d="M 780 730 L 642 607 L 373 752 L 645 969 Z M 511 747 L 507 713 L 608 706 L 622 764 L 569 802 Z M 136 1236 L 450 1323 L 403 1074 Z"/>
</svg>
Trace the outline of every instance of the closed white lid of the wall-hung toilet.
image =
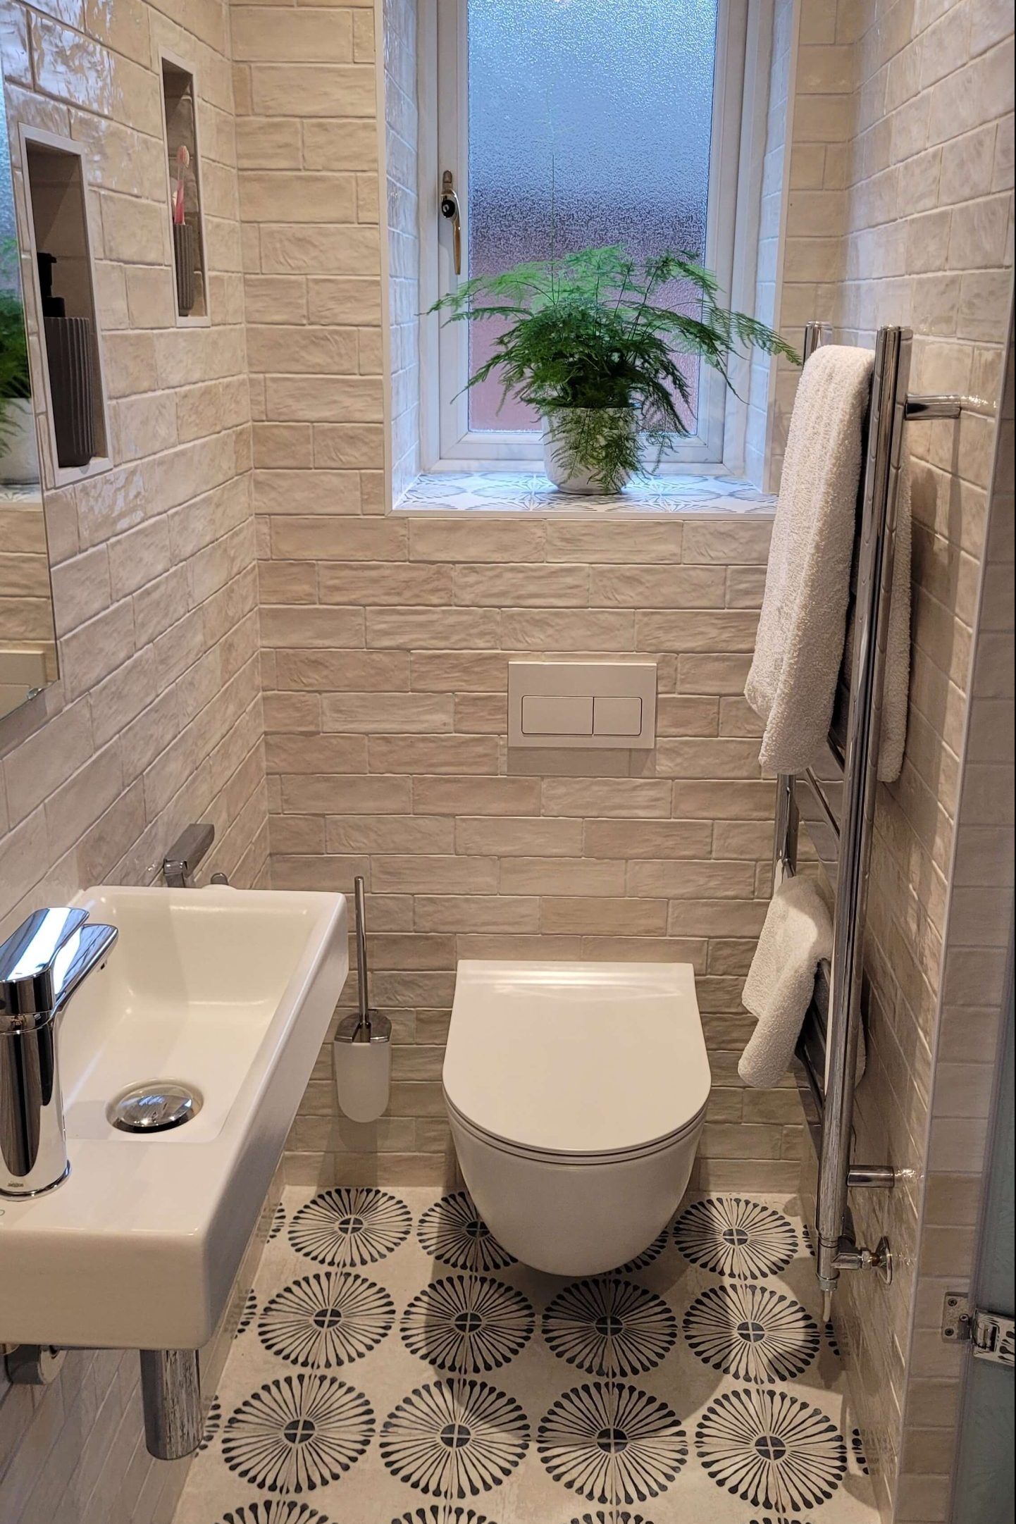
<svg viewBox="0 0 1016 1524">
<path fill-rule="evenodd" d="M 670 1137 L 710 1093 L 692 965 L 463 960 L 443 1077 L 463 1117 L 522 1148 Z"/>
</svg>

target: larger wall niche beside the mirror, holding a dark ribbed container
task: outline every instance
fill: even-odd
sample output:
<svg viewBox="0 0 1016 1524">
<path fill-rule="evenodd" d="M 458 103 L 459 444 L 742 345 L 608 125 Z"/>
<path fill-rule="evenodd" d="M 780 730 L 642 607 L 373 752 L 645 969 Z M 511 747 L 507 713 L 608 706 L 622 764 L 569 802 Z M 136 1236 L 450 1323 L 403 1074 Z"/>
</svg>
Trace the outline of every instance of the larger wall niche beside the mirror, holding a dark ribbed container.
<svg viewBox="0 0 1016 1524">
<path fill-rule="evenodd" d="M 110 468 L 84 149 L 23 125 L 21 151 L 53 485 L 67 486 Z"/>
</svg>

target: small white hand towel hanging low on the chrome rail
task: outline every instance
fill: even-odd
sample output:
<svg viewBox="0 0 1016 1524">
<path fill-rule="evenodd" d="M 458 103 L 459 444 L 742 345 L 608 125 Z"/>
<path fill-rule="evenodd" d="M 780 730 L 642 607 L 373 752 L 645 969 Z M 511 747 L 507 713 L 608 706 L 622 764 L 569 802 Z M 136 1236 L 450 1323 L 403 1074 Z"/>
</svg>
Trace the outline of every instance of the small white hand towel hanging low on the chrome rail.
<svg viewBox="0 0 1016 1524">
<path fill-rule="evenodd" d="M 815 971 L 832 951 L 833 922 L 816 881 L 784 879 L 769 901 L 742 995 L 759 1023 L 737 1064 L 746 1085 L 771 1090 L 789 1070 Z"/>
</svg>

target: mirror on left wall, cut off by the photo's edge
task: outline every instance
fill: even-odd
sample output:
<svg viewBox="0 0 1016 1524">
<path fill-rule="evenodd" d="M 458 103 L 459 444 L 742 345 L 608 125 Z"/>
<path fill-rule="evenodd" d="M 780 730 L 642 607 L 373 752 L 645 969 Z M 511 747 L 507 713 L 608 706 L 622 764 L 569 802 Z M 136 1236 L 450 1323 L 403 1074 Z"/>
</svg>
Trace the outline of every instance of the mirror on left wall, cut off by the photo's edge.
<svg viewBox="0 0 1016 1524">
<path fill-rule="evenodd" d="M 0 715 L 55 677 L 53 604 L 0 75 Z"/>
</svg>

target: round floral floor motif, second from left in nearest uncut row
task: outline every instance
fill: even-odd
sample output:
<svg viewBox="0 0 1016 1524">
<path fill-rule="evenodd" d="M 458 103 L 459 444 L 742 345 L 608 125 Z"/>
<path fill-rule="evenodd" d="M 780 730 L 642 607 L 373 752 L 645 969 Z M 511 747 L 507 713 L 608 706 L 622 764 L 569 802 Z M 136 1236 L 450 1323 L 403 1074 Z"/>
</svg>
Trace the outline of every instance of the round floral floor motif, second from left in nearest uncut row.
<svg viewBox="0 0 1016 1524">
<path fill-rule="evenodd" d="M 515 1398 L 484 1381 L 416 1387 L 385 1419 L 381 1458 L 399 1481 L 445 1503 L 500 1487 L 529 1448 Z"/>
</svg>

